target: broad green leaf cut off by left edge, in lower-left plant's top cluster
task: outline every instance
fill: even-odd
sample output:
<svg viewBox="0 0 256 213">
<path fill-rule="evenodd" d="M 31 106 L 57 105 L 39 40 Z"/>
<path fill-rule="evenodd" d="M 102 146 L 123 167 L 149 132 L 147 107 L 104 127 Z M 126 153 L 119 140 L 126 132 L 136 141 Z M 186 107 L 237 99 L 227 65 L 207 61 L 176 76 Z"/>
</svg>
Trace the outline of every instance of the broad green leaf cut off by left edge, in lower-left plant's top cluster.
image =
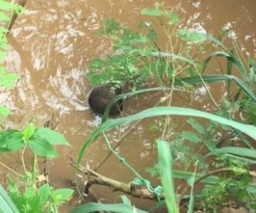
<svg viewBox="0 0 256 213">
<path fill-rule="evenodd" d="M 19 151 L 23 146 L 19 130 L 9 129 L 0 133 L 0 152 Z"/>
</svg>

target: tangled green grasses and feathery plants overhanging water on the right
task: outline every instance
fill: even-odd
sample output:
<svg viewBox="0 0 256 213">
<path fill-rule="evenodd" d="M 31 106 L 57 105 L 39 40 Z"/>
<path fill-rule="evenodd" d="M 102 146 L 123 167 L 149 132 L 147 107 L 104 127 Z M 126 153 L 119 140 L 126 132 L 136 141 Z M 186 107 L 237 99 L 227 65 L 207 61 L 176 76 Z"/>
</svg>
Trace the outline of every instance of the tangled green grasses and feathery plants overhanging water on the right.
<svg viewBox="0 0 256 213">
<path fill-rule="evenodd" d="M 255 209 L 256 186 L 252 181 L 255 172 L 250 170 L 256 156 L 256 127 L 253 126 L 255 62 L 245 60 L 235 40 L 231 40 L 233 46 L 227 48 L 221 40 L 206 32 L 181 28 L 177 13 L 165 10 L 164 4 L 143 9 L 141 14 L 150 18 L 145 18 L 136 32 L 122 27 L 114 19 L 104 21 L 98 33 L 113 41 L 113 51 L 104 58 L 95 58 L 87 77 L 93 85 L 117 81 L 130 86 L 132 92 L 117 96 L 112 104 L 117 99 L 143 94 L 147 88 L 154 90 L 152 87 L 157 86 L 162 88 L 163 94 L 158 103 L 160 106 L 150 106 L 138 114 L 116 119 L 108 119 L 106 113 L 102 125 L 94 129 L 83 144 L 78 165 L 88 146 L 105 131 L 150 117 L 162 120 L 164 116 L 161 126 L 155 123 L 153 126 L 155 131 L 162 132 L 162 136 L 156 140 L 158 164 L 148 171 L 162 180 L 165 196 L 157 194 L 156 190 L 153 193 L 155 197 L 164 199 L 163 205 L 169 212 L 178 212 L 179 207 L 188 212 L 193 212 L 194 207 L 215 212 L 229 206 L 231 201 L 240 202 L 247 209 Z M 162 32 L 159 32 L 159 27 L 155 32 L 156 26 L 161 26 Z M 158 45 L 159 33 L 166 38 L 166 43 L 161 46 L 164 48 Z M 220 63 L 226 64 L 225 70 Z M 215 98 L 212 91 L 220 84 L 222 92 Z M 171 106 L 174 92 L 186 93 L 188 99 L 193 99 L 200 88 L 204 92 L 198 95 L 207 97 L 208 113 L 203 108 Z M 174 115 L 186 117 L 190 128 L 177 130 L 172 125 Z M 199 117 L 207 121 L 201 121 Z M 113 148 L 109 152 L 115 154 Z M 176 170 L 176 165 L 183 166 Z M 134 176 L 138 178 L 136 173 Z M 185 180 L 185 183 L 181 181 L 176 186 L 174 180 Z M 202 188 L 197 187 L 199 183 L 203 184 Z M 143 177 L 141 184 L 145 184 Z M 147 186 L 149 191 L 150 187 Z M 111 207 L 122 212 L 121 209 L 118 211 L 118 205 L 121 204 L 111 204 Z M 101 210 L 104 204 L 100 206 L 90 203 L 79 209 L 94 207 Z M 75 209 L 73 212 L 79 211 Z"/>
</svg>

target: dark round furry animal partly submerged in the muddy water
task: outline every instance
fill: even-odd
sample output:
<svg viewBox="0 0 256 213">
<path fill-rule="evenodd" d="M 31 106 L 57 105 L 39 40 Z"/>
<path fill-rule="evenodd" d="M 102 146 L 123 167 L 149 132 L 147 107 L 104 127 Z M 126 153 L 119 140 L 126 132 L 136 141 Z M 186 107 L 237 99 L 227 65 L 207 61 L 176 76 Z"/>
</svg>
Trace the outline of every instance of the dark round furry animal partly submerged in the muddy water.
<svg viewBox="0 0 256 213">
<path fill-rule="evenodd" d="M 122 89 L 120 85 L 116 83 L 101 84 L 94 87 L 92 92 L 90 92 L 88 97 L 88 104 L 95 114 L 102 116 L 111 99 L 121 93 Z M 117 115 L 122 111 L 122 109 L 123 100 L 119 99 L 111 106 L 109 115 Z"/>
</svg>

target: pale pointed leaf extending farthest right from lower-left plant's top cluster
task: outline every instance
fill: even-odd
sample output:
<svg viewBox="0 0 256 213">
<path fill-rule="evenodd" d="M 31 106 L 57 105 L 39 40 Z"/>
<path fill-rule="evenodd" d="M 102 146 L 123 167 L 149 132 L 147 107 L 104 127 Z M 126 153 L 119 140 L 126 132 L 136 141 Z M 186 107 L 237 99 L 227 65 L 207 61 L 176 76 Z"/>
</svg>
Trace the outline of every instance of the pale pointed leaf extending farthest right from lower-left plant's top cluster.
<svg viewBox="0 0 256 213">
<path fill-rule="evenodd" d="M 65 137 L 62 134 L 52 129 L 39 128 L 39 129 L 36 129 L 34 135 L 41 136 L 41 138 L 44 138 L 50 144 L 53 144 L 53 145 L 69 145 L 69 143 L 66 141 Z"/>
</svg>

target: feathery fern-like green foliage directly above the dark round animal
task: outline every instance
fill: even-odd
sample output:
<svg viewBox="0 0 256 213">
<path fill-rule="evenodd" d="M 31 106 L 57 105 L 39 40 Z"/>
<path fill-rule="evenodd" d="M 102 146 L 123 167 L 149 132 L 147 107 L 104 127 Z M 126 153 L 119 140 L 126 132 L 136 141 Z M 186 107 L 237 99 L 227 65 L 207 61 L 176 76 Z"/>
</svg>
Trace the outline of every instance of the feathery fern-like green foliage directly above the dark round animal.
<svg viewBox="0 0 256 213">
<path fill-rule="evenodd" d="M 112 55 L 107 55 L 105 59 L 95 58 L 91 62 L 87 77 L 93 85 L 108 81 L 138 85 L 153 75 L 149 68 L 157 64 L 148 58 L 154 49 L 148 46 L 155 39 L 152 31 L 134 33 L 122 28 L 114 19 L 109 19 L 103 22 L 99 33 L 115 40 L 115 45 Z"/>
</svg>

